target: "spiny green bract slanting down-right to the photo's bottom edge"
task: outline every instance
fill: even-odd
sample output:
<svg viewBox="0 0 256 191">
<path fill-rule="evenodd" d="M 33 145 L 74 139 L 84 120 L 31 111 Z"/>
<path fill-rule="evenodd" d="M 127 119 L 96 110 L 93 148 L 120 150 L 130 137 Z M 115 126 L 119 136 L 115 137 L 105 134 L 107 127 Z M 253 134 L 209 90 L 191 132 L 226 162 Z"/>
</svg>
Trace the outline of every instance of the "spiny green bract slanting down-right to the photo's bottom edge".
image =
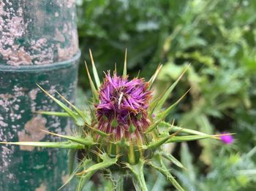
<svg viewBox="0 0 256 191">
<path fill-rule="evenodd" d="M 162 156 L 161 155 L 159 155 L 159 154 L 154 155 L 154 157 L 151 160 L 148 161 L 148 165 L 151 165 L 157 171 L 162 173 L 167 178 L 167 180 L 169 182 L 171 182 L 174 187 L 176 187 L 176 189 L 178 191 L 184 191 L 184 189 L 181 187 L 181 185 L 178 184 L 176 179 L 174 179 L 173 175 L 170 174 L 168 169 L 165 167 L 165 164 L 162 161 Z"/>
</svg>

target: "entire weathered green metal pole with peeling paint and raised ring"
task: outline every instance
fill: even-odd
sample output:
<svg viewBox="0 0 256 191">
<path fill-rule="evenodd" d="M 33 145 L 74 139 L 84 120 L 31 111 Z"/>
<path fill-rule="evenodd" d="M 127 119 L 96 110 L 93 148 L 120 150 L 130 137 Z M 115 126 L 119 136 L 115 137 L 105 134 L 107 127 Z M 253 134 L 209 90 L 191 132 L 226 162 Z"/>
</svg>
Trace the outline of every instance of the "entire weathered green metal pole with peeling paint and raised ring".
<svg viewBox="0 0 256 191">
<path fill-rule="evenodd" d="M 69 133 L 66 118 L 34 112 L 59 111 L 36 84 L 74 101 L 75 20 L 71 0 L 0 1 L 0 141 L 59 140 L 41 129 Z M 67 159 L 61 149 L 0 146 L 0 190 L 58 190 L 68 177 Z"/>
</svg>

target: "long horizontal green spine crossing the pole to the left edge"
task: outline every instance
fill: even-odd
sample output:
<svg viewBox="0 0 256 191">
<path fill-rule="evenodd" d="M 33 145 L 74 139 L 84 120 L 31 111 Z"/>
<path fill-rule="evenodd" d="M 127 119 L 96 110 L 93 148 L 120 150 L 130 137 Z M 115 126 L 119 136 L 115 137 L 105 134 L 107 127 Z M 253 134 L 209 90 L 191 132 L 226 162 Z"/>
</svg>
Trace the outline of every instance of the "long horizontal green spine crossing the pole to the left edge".
<svg viewBox="0 0 256 191">
<path fill-rule="evenodd" d="M 59 149 L 83 149 L 83 144 L 74 143 L 72 141 L 66 142 L 34 142 L 34 141 L 22 141 L 22 142 L 0 142 L 0 144 L 14 144 L 31 147 L 48 147 Z"/>
</svg>

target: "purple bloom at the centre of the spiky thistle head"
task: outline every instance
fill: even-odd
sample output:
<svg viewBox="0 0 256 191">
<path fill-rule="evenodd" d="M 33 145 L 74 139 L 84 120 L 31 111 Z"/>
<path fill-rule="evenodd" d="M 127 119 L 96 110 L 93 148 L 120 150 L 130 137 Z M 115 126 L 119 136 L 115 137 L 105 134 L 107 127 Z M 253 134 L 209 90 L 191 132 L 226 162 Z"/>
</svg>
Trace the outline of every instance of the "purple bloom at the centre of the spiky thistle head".
<svg viewBox="0 0 256 191">
<path fill-rule="evenodd" d="M 140 137 L 150 125 L 147 109 L 151 99 L 148 82 L 144 79 L 118 77 L 110 71 L 99 89 L 99 104 L 96 104 L 99 130 L 113 134 L 116 139 Z"/>
</svg>

